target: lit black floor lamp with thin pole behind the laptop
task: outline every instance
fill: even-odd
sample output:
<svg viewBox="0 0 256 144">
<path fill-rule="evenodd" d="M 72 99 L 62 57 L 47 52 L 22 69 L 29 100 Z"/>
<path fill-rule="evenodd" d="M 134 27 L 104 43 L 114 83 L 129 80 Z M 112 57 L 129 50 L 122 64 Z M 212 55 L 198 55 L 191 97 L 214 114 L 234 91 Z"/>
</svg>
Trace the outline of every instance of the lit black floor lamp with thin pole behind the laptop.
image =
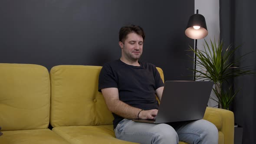
<svg viewBox="0 0 256 144">
<path fill-rule="evenodd" d="M 185 30 L 185 34 L 190 39 L 195 39 L 195 51 L 197 52 L 197 39 L 203 39 L 208 35 L 207 26 L 205 22 L 205 18 L 203 15 L 198 14 L 198 10 L 196 14 L 190 16 L 187 29 Z M 197 63 L 197 55 L 195 53 L 194 56 L 194 80 L 196 80 L 196 63 Z"/>
</svg>

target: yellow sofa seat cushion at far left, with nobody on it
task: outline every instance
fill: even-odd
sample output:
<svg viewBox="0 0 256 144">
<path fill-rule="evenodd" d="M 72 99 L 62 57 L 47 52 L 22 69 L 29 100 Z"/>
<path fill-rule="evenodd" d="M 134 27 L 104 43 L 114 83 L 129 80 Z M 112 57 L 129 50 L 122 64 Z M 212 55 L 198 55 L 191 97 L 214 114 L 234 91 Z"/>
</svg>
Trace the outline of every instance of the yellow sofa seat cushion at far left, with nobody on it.
<svg viewBox="0 0 256 144">
<path fill-rule="evenodd" d="M 1 131 L 0 144 L 69 144 L 55 132 L 47 129 Z"/>
</svg>

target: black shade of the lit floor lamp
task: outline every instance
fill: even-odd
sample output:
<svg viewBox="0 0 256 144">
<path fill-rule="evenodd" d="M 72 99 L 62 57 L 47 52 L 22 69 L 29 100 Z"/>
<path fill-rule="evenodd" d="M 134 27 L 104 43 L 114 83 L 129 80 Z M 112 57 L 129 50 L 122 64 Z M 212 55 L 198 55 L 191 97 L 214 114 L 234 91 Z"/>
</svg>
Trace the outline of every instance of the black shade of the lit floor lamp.
<svg viewBox="0 0 256 144">
<path fill-rule="evenodd" d="M 193 26 L 200 26 L 200 28 L 195 29 Z M 208 35 L 208 31 L 204 16 L 201 14 L 194 14 L 190 16 L 185 34 L 191 39 L 203 39 L 206 37 Z"/>
</svg>

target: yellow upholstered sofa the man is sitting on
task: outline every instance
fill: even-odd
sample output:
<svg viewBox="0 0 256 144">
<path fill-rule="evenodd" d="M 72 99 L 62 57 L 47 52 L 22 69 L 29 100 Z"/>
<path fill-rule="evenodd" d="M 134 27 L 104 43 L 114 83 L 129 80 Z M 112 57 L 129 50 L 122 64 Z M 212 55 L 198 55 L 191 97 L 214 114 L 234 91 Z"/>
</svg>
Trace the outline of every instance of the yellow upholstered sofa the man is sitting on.
<svg viewBox="0 0 256 144">
<path fill-rule="evenodd" d="M 131 143 L 115 138 L 98 92 L 101 68 L 58 65 L 49 73 L 41 65 L 0 64 L 0 144 Z M 233 144 L 233 112 L 207 107 L 204 119 L 217 126 L 219 144 Z"/>
</svg>

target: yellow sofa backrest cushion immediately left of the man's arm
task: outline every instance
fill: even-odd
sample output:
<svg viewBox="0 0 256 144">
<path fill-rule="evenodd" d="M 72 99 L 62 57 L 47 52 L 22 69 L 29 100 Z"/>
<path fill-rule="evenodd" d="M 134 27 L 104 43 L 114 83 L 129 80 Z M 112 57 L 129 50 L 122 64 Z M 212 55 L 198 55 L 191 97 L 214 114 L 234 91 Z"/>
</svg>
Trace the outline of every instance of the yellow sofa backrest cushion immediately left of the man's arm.
<svg viewBox="0 0 256 144">
<path fill-rule="evenodd" d="M 53 127 L 112 124 L 113 116 L 98 92 L 101 66 L 58 65 L 50 71 Z"/>
</svg>

